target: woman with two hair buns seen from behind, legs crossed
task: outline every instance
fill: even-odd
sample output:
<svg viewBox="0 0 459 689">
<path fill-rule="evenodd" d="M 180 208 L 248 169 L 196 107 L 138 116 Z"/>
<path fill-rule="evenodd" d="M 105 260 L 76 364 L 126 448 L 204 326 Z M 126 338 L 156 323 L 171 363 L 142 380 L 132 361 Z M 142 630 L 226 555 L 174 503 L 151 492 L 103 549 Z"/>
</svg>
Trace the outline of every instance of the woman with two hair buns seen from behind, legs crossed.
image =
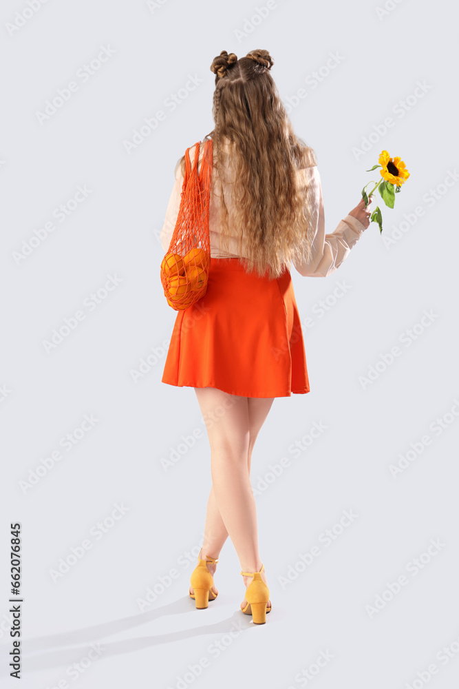
<svg viewBox="0 0 459 689">
<path fill-rule="evenodd" d="M 365 208 L 361 200 L 325 234 L 316 157 L 293 133 L 273 63 L 267 50 L 239 60 L 223 50 L 211 64 L 209 282 L 203 298 L 178 311 L 162 376 L 194 387 L 211 446 L 212 488 L 189 593 L 199 609 L 217 597 L 213 574 L 229 535 L 248 587 L 241 610 L 255 624 L 264 624 L 271 603 L 250 484 L 253 446 L 275 397 L 310 390 L 289 267 L 313 277 L 337 270 L 370 224 L 372 201 Z M 184 156 L 161 232 L 164 251 L 183 179 Z"/>
</svg>

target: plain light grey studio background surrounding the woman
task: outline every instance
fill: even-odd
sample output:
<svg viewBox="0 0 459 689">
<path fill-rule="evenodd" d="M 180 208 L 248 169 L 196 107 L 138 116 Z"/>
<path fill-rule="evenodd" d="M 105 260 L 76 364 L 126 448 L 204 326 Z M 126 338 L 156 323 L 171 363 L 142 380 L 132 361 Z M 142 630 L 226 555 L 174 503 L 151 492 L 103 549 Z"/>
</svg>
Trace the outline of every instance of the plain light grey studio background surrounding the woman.
<svg viewBox="0 0 459 689">
<path fill-rule="evenodd" d="M 278 0 L 241 37 L 266 3 L 162 0 L 155 8 L 140 0 L 49 0 L 12 35 L 7 24 L 28 5 L 2 3 L 5 686 L 16 686 L 8 677 L 10 522 L 22 525 L 23 687 L 456 686 L 458 185 L 444 185 L 459 165 L 456 23 L 445 0 L 391 6 L 378 17 L 383 0 Z M 85 83 L 76 79 L 100 46 L 114 54 Z M 411 173 L 393 210 L 381 202 L 383 236 L 405 214 L 423 211 L 390 247 L 372 223 L 326 280 L 292 271 L 301 321 L 314 320 L 303 326 L 311 390 L 275 400 L 253 453 L 254 489 L 271 480 L 256 499 L 273 611 L 257 628 L 239 612 L 244 586 L 229 539 L 215 575 L 217 601 L 197 611 L 188 597 L 211 487 L 210 451 L 193 389 L 160 380 L 175 311 L 160 284 L 159 242 L 175 162 L 213 128 L 209 65 L 221 50 L 240 57 L 254 48 L 270 50 L 284 102 L 300 88 L 308 92 L 290 117 L 317 152 L 328 232 L 359 203 L 363 185 L 379 178 L 365 170 L 383 149 L 401 155 Z M 330 53 L 341 55 L 339 65 L 317 88 L 307 85 Z M 189 74 L 202 83 L 181 92 L 186 97 L 171 110 L 168 96 Z M 39 123 L 36 112 L 70 81 L 78 91 Z M 418 81 L 427 92 L 416 103 L 409 99 L 403 117 L 396 114 Z M 128 154 L 123 142 L 158 110 L 165 119 Z M 389 116 L 394 126 L 356 158 L 354 147 Z M 84 203 L 17 265 L 23 240 L 52 220 L 78 185 L 92 190 Z M 434 203 L 431 189 L 438 189 Z M 120 282 L 91 311 L 85 299 L 107 275 Z M 334 298 L 343 282 L 346 293 Z M 323 318 L 319 300 L 334 301 Z M 78 309 L 85 320 L 47 353 L 43 341 Z M 416 327 L 408 347 L 400 338 L 425 309 L 436 318 Z M 364 389 L 359 377 L 397 345 L 401 356 Z M 156 363 L 134 380 L 132 371 L 149 355 L 153 361 L 154 351 Z M 62 459 L 24 493 L 21 481 L 85 415 L 98 422 L 72 451 L 61 447 Z M 431 427 L 437 418 L 445 419 L 438 435 Z M 294 457 L 289 446 L 314 422 L 327 429 Z M 162 457 L 193 431 L 200 438 L 164 471 Z M 426 434 L 431 444 L 394 478 L 389 466 Z M 282 457 L 290 466 L 272 481 L 271 465 Z M 98 539 L 91 530 L 115 504 L 127 511 L 108 520 L 111 528 Z M 345 510 L 358 517 L 329 547 L 321 544 L 321 533 Z M 85 539 L 92 548 L 54 582 L 50 570 Z M 410 573 L 431 539 L 442 546 Z M 283 587 L 281 577 L 314 545 L 321 555 Z M 142 612 L 138 599 L 173 568 L 178 577 Z M 407 585 L 390 600 L 386 593 L 383 609 L 370 616 L 367 606 L 401 575 Z M 100 652 L 85 661 L 91 644 Z M 448 660 L 442 648 L 449 648 Z M 301 679 L 303 670 L 317 672 L 321 652 L 332 659 Z M 186 675 L 201 659 L 207 666 L 200 675 Z M 84 672 L 70 675 L 80 662 Z M 426 672 L 432 664 L 436 674 Z"/>
</svg>

